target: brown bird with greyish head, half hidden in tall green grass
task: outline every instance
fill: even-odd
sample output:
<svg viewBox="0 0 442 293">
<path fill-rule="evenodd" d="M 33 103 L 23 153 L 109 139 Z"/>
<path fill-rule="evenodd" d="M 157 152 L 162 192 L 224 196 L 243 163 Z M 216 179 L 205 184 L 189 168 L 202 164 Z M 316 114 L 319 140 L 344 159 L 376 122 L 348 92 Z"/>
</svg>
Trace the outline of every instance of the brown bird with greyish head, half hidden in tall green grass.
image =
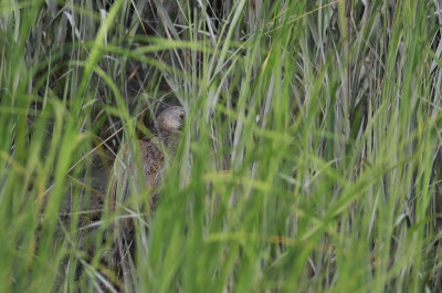
<svg viewBox="0 0 442 293">
<path fill-rule="evenodd" d="M 107 197 L 109 197 L 112 211 L 115 211 L 118 207 L 127 210 L 125 203 L 133 193 L 145 193 L 150 195 L 148 205 L 151 214 L 154 213 L 157 201 L 154 189 L 161 181 L 161 175 L 166 168 L 166 158 L 172 157 L 177 150 L 185 119 L 186 111 L 183 107 L 169 106 L 155 119 L 155 127 L 151 130 L 152 137 L 136 142 L 139 146 L 139 157 L 134 154 L 135 151 L 130 151 L 128 144 L 122 147 L 114 161 L 108 184 Z M 134 221 L 130 217 L 124 221 L 116 217 L 113 230 L 112 266 L 118 275 L 122 275 L 130 271 L 128 255 L 130 255 L 129 252 L 134 247 Z"/>
</svg>

